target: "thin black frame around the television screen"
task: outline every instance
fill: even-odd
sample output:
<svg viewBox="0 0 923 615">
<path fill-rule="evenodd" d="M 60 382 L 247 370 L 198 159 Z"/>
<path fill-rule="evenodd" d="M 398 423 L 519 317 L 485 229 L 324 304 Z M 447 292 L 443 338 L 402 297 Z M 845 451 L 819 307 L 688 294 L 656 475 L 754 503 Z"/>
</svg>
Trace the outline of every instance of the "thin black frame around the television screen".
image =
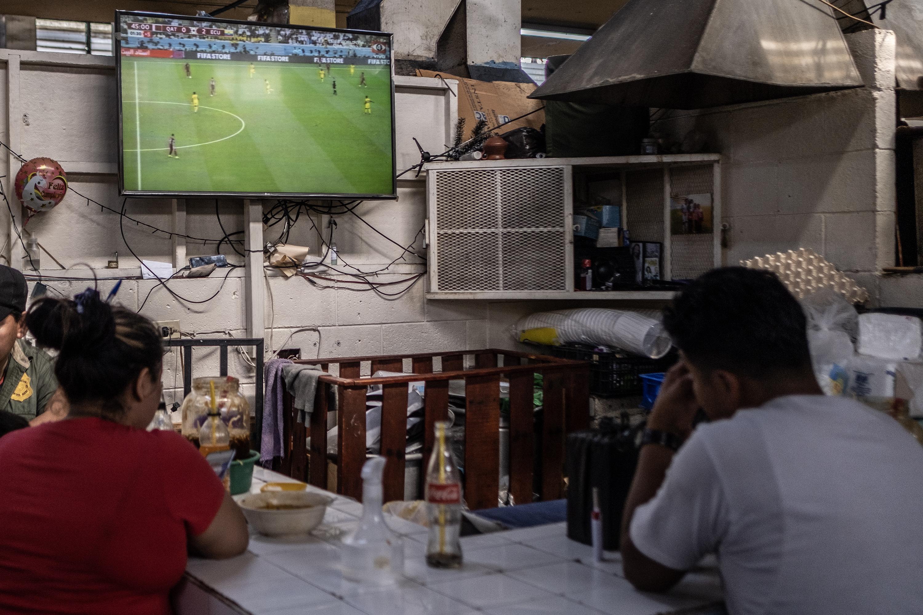
<svg viewBox="0 0 923 615">
<path fill-rule="evenodd" d="M 269 26 L 270 28 L 288 28 L 292 30 L 320 30 L 325 32 L 348 32 L 352 34 L 365 34 L 366 36 L 378 36 L 387 38 L 389 41 L 388 52 L 391 71 L 391 193 L 388 195 L 364 195 L 354 193 L 294 193 L 294 192 L 212 192 L 212 191 L 155 191 L 155 190 L 126 190 L 125 188 L 125 146 L 122 142 L 123 124 L 122 124 L 122 40 L 121 40 L 121 17 L 138 16 L 142 18 L 166 18 L 182 19 L 184 21 L 201 23 L 215 22 L 226 24 L 239 24 L 245 26 Z M 374 30 L 347 30 L 341 28 L 323 28 L 320 26 L 299 26 L 295 24 L 275 24 L 267 22 L 244 21 L 240 19 L 222 19 L 211 17 L 194 17 L 189 15 L 172 15 L 169 13 L 154 13 L 150 11 L 115 11 L 113 38 L 115 41 L 115 79 L 116 88 L 118 89 L 118 187 L 120 196 L 128 197 L 179 197 L 179 198 L 213 198 L 216 196 L 228 196 L 236 198 L 294 198 L 294 199 L 318 199 L 318 200 L 365 200 L 365 201 L 384 201 L 396 200 L 397 195 L 397 148 L 395 145 L 395 115 L 394 115 L 394 35 L 388 32 L 378 32 Z M 140 144 L 138 144 L 140 145 Z"/>
</svg>

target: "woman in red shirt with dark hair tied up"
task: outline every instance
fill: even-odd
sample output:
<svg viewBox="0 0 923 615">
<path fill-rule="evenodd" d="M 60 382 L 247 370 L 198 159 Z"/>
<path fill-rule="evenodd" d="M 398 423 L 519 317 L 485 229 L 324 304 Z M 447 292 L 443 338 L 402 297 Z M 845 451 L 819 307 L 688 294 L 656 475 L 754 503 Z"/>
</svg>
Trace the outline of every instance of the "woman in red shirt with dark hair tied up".
<svg viewBox="0 0 923 615">
<path fill-rule="evenodd" d="M 146 432 L 161 398 L 150 321 L 86 290 L 43 299 L 26 323 L 59 349 L 67 420 L 0 438 L 0 613 L 167 615 L 198 555 L 246 550 L 246 520 L 173 432 Z"/>
</svg>

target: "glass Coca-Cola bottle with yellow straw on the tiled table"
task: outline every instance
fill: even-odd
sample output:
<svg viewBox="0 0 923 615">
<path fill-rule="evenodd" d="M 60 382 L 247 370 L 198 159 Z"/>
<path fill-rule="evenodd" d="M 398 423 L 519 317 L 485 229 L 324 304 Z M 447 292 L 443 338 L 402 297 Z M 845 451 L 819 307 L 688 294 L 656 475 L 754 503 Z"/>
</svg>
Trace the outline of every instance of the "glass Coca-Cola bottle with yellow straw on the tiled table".
<svg viewBox="0 0 923 615">
<path fill-rule="evenodd" d="M 462 478 L 447 442 L 448 429 L 447 421 L 436 423 L 436 442 L 426 467 L 426 563 L 434 568 L 462 565 Z"/>
</svg>

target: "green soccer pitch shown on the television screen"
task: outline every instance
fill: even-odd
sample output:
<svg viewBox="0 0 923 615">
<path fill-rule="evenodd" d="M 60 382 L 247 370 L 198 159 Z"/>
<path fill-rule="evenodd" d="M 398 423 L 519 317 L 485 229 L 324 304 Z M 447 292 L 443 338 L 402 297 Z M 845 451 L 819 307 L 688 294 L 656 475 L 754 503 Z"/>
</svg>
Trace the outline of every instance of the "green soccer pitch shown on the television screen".
<svg viewBox="0 0 923 615">
<path fill-rule="evenodd" d="M 392 194 L 390 66 L 321 80 L 314 64 L 254 62 L 250 77 L 248 62 L 190 60 L 192 78 L 185 64 L 122 60 L 126 191 Z"/>
</svg>

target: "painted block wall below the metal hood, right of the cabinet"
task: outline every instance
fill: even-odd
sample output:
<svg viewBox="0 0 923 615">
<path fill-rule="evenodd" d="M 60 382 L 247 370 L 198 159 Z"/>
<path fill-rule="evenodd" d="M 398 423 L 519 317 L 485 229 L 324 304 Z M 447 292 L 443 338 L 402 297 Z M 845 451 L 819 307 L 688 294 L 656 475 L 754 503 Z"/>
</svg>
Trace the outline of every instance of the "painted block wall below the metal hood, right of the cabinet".
<svg viewBox="0 0 923 615">
<path fill-rule="evenodd" d="M 655 128 L 701 131 L 724 156 L 725 264 L 809 248 L 880 298 L 894 254 L 894 36 L 846 36 L 866 87 L 700 112 Z"/>
</svg>

